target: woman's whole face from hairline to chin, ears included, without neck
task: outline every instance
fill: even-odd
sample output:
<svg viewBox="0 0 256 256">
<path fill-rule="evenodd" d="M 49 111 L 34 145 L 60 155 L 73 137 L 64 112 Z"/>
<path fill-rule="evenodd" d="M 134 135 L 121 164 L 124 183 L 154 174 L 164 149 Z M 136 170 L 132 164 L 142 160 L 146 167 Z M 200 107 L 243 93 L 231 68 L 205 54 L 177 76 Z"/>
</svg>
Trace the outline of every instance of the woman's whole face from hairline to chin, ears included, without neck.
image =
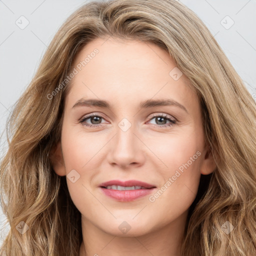
<svg viewBox="0 0 256 256">
<path fill-rule="evenodd" d="M 53 168 L 83 223 L 134 236 L 184 222 L 200 174 L 215 168 L 188 79 L 136 40 L 97 38 L 73 68 Z"/>
</svg>

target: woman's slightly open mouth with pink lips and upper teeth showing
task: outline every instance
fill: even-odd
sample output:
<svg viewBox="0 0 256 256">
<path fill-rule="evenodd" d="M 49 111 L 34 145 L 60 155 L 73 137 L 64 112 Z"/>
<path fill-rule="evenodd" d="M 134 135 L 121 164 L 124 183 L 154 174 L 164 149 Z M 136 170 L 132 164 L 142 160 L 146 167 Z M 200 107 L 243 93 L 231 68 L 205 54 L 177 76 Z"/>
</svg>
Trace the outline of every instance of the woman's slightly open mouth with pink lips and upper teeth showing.
<svg viewBox="0 0 256 256">
<path fill-rule="evenodd" d="M 117 201 L 132 201 L 151 193 L 156 186 L 138 180 L 109 180 L 99 185 L 101 191 Z"/>
</svg>

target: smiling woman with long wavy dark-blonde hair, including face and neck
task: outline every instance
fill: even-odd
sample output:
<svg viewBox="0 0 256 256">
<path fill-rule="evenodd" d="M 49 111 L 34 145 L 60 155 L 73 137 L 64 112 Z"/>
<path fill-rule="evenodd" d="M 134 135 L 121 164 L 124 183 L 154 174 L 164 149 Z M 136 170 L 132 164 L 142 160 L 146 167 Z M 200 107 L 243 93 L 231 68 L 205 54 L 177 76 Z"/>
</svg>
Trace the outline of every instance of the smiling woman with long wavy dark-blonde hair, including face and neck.
<svg viewBox="0 0 256 256">
<path fill-rule="evenodd" d="M 182 3 L 84 4 L 8 122 L 1 255 L 254 255 L 255 128 Z"/>
</svg>

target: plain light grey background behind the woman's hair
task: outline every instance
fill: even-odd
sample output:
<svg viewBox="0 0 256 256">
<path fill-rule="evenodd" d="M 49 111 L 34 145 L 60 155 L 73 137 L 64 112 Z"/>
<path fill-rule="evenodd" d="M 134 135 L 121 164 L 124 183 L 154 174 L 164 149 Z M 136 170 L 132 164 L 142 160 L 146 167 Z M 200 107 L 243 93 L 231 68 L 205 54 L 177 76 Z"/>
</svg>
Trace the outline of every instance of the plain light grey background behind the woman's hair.
<svg viewBox="0 0 256 256">
<path fill-rule="evenodd" d="M 180 1 L 202 19 L 244 80 L 249 92 L 256 93 L 256 0 Z M 0 0 L 0 132 L 5 127 L 12 105 L 35 74 L 53 35 L 63 21 L 85 2 Z M 29 21 L 23 29 L 16 24 L 25 24 L 25 19 L 20 18 L 22 15 Z M 231 22 L 234 24 L 226 29 L 224 26 L 229 27 Z M 5 150 L 3 135 L 0 140 L 0 156 Z M 0 209 L 0 227 L 4 220 Z M 0 242 L 1 235 L 4 234 L 0 234 Z"/>
</svg>

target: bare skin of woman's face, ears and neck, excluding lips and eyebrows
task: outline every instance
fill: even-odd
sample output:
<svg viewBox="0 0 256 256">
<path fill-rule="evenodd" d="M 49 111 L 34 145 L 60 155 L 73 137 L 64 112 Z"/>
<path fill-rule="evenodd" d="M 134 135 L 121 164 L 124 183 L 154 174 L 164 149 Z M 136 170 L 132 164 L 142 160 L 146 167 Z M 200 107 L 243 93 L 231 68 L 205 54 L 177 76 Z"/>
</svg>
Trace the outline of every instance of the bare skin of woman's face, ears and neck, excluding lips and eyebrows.
<svg viewBox="0 0 256 256">
<path fill-rule="evenodd" d="M 79 255 L 180 255 L 185 220 L 200 174 L 209 174 L 216 167 L 204 143 L 198 98 L 184 75 L 178 80 L 169 75 L 176 64 L 155 44 L 97 38 L 82 48 L 73 67 L 94 48 L 99 52 L 72 78 L 61 141 L 52 152 L 52 166 L 58 175 L 67 175 L 72 169 L 80 175 L 74 183 L 66 179 L 81 212 Z M 107 100 L 110 108 L 72 108 L 80 98 Z M 187 112 L 176 105 L 141 109 L 139 103 L 146 99 L 173 99 Z M 101 122 L 87 118 L 84 122 L 93 127 L 79 122 L 89 113 L 102 115 Z M 161 113 L 176 118 L 176 123 L 166 126 L 168 119 L 157 121 Z M 118 126 L 124 117 L 131 124 L 126 131 Z M 111 179 L 136 179 L 158 190 L 197 151 L 197 159 L 153 202 L 149 195 L 120 202 L 98 187 Z M 130 226 L 126 233 L 118 228 L 123 221 Z"/>
</svg>

